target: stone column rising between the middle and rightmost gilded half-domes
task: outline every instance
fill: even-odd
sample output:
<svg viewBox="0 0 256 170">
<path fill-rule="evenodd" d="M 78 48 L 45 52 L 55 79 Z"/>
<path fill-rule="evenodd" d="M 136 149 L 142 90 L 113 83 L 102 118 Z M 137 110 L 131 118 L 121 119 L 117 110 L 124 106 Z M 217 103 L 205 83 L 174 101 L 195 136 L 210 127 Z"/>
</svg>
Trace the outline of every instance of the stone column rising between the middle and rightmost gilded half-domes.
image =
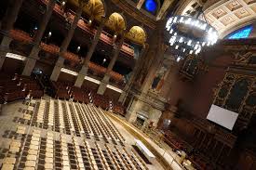
<svg viewBox="0 0 256 170">
<path fill-rule="evenodd" d="M 120 53 L 120 50 L 123 46 L 124 41 L 125 41 L 125 32 L 122 33 L 120 41 L 114 45 L 113 58 L 111 59 L 109 65 L 108 65 L 107 71 L 104 75 L 104 78 L 101 80 L 101 85 L 99 86 L 98 91 L 97 91 L 97 93 L 100 95 L 103 95 L 106 90 L 106 87 L 107 87 L 107 85 L 109 83 L 109 79 L 110 79 L 110 72 L 112 71 L 112 69 L 115 65 L 115 62 L 118 59 L 118 55 Z"/>
</svg>

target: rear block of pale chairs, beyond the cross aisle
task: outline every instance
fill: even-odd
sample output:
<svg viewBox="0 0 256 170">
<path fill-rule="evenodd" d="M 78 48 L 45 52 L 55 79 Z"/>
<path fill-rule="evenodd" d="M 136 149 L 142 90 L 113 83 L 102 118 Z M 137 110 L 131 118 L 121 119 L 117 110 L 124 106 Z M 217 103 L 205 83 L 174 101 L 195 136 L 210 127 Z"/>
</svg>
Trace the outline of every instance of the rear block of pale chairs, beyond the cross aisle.
<svg viewBox="0 0 256 170">
<path fill-rule="evenodd" d="M 101 108 L 61 99 L 43 99 L 35 105 L 32 125 L 76 137 L 95 138 L 124 146 L 125 138 Z"/>
</svg>

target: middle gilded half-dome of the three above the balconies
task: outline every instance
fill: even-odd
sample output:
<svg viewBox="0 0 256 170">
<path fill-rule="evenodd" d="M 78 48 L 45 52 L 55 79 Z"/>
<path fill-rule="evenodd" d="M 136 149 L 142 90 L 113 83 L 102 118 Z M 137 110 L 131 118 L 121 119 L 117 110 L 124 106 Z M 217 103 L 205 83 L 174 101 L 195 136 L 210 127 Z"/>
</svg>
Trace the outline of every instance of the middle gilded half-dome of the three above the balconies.
<svg viewBox="0 0 256 170">
<path fill-rule="evenodd" d="M 120 33 L 127 27 L 124 18 L 116 12 L 109 17 L 109 20 L 106 22 L 106 26 L 114 30 L 116 33 Z"/>
</svg>

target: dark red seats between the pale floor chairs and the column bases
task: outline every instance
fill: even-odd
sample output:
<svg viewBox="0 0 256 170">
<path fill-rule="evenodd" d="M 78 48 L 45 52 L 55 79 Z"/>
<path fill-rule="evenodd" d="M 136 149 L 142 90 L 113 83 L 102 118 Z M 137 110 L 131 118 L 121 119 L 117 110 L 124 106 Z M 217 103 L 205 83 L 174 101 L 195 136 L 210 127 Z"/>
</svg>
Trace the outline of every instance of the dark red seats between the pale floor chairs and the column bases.
<svg viewBox="0 0 256 170">
<path fill-rule="evenodd" d="M 52 82 L 53 88 L 55 89 L 55 98 L 61 99 L 72 99 L 74 101 L 93 104 L 97 107 L 101 107 L 104 110 L 110 109 L 110 103 L 113 105 L 113 111 L 115 113 L 125 116 L 125 109 L 121 103 L 113 101 L 104 95 L 99 95 L 93 90 L 88 88 L 78 88 L 68 83 Z"/>
</svg>

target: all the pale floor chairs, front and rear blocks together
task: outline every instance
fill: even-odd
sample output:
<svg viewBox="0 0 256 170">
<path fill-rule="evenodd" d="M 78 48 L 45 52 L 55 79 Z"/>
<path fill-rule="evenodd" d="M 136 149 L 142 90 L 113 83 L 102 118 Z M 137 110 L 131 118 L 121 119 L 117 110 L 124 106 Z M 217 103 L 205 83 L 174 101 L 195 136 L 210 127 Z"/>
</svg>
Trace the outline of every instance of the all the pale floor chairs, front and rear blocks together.
<svg viewBox="0 0 256 170">
<path fill-rule="evenodd" d="M 148 169 L 101 108 L 51 98 L 36 100 L 34 107 L 32 102 L 19 113 L 30 124 L 17 124 L 16 135 L 8 137 L 0 169 Z"/>
</svg>

